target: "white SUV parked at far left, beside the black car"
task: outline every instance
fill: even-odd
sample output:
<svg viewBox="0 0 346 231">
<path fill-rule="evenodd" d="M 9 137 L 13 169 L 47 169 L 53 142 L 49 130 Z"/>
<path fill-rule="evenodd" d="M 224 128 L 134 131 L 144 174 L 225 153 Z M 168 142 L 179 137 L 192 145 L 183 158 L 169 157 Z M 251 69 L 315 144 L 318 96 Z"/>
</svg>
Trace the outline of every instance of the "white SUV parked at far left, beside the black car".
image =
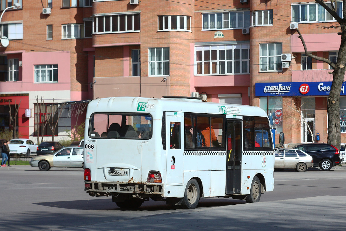
<svg viewBox="0 0 346 231">
<path fill-rule="evenodd" d="M 12 139 L 8 142 L 10 148 L 10 156 L 36 156 L 37 146 L 32 140 L 29 139 Z"/>
</svg>

